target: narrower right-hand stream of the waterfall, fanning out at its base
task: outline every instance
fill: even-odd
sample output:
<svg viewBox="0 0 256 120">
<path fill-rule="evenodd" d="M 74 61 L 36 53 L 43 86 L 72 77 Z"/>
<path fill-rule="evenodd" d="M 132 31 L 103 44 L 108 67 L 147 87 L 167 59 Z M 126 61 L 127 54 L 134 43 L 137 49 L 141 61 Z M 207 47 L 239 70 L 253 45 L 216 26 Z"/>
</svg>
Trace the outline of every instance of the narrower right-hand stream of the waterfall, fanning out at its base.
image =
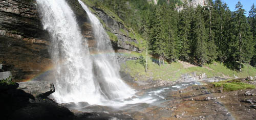
<svg viewBox="0 0 256 120">
<path fill-rule="evenodd" d="M 92 56 L 92 58 L 94 66 L 96 67 L 95 70 L 97 70 L 95 77 L 98 83 L 100 83 L 102 91 L 110 100 L 131 97 L 135 91 L 120 79 L 118 70 L 119 64 L 116 62 L 109 36 L 103 29 L 99 19 L 91 13 L 83 2 L 80 0 L 78 0 L 78 2 L 87 12 L 93 27 L 95 40 L 97 42 L 94 52 L 97 54 Z"/>
</svg>

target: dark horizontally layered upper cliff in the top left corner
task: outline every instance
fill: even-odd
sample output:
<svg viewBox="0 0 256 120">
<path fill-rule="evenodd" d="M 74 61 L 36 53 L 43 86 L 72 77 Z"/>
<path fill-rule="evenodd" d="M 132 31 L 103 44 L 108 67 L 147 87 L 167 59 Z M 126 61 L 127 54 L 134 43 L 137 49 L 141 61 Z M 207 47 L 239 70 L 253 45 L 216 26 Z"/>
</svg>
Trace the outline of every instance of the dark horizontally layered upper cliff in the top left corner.
<svg viewBox="0 0 256 120">
<path fill-rule="evenodd" d="M 17 38 L 47 38 L 36 11 L 35 1 L 0 0 L 0 30 L 15 34 Z M 13 37 L 8 34 L 2 35 Z"/>
</svg>

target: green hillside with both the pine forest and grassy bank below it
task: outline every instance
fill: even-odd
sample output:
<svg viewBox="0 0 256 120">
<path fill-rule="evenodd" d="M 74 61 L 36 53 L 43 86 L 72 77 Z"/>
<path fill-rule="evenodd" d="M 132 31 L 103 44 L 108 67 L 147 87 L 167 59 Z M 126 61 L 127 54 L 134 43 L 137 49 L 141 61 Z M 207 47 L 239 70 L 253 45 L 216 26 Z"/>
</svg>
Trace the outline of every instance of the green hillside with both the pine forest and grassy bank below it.
<svg viewBox="0 0 256 120">
<path fill-rule="evenodd" d="M 249 11 L 250 17 L 246 18 L 241 3 L 231 14 L 227 5 L 219 0 L 209 1 L 208 5 L 197 8 L 176 0 L 169 3 L 161 0 L 157 5 L 147 0 L 83 1 L 90 7 L 102 9 L 128 30 L 134 30 L 135 36 L 132 32 L 119 31 L 140 41 L 139 44 L 130 44 L 143 51 L 143 58 L 148 48 L 147 73 L 145 65 L 139 60 L 122 65 L 122 70 L 136 79 L 152 77 L 174 81 L 182 74 L 194 71 L 205 73 L 208 77 L 255 76 L 255 8 Z M 183 6 L 181 12 L 176 10 L 177 5 Z M 116 40 L 114 34 L 107 33 L 112 40 Z M 129 56 L 134 54 L 140 57 L 139 53 Z M 184 67 L 182 61 L 191 67 Z"/>
</svg>

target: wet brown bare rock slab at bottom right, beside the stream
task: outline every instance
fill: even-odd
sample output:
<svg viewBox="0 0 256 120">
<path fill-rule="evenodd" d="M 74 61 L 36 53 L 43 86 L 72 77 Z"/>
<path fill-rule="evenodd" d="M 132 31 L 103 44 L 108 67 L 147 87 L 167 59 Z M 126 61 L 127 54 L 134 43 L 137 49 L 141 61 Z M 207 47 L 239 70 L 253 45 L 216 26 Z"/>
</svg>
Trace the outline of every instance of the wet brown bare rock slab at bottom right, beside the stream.
<svg viewBox="0 0 256 120">
<path fill-rule="evenodd" d="M 256 96 L 245 95 L 246 92 L 248 90 L 214 92 L 207 86 L 191 86 L 170 92 L 168 95 L 173 97 L 165 98 L 167 101 L 159 106 L 129 114 L 134 119 L 255 119 Z"/>
</svg>

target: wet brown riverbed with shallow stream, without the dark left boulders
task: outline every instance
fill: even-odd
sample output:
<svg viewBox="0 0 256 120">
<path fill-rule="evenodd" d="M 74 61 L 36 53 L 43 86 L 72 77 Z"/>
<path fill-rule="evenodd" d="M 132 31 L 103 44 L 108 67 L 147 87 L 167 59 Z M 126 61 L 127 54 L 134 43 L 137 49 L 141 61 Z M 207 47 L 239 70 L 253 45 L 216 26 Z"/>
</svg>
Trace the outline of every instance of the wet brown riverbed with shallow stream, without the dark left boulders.
<svg viewBox="0 0 256 120">
<path fill-rule="evenodd" d="M 256 85 L 255 81 L 236 81 Z M 74 103 L 62 106 L 75 114 L 98 111 L 112 116 L 128 115 L 132 119 L 255 119 L 255 93 L 256 89 L 225 91 L 223 87 L 215 87 L 206 81 L 183 82 L 139 90 L 136 97 L 130 98 L 151 96 L 156 100 L 152 103 L 127 104 L 118 108 L 88 103 L 79 103 L 79 107 Z"/>
</svg>

